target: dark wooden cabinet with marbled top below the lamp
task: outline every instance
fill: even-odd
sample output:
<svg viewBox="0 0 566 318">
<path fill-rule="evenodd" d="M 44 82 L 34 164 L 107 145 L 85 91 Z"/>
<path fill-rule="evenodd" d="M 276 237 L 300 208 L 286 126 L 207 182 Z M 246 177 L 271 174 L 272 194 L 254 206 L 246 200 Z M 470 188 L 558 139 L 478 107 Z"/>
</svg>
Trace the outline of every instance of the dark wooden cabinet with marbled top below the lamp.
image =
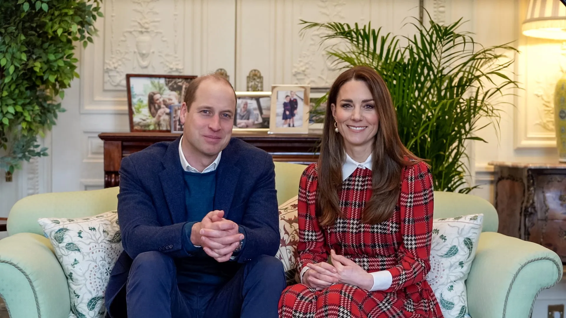
<svg viewBox="0 0 566 318">
<path fill-rule="evenodd" d="M 555 251 L 566 262 L 566 165 L 495 166 L 498 232 Z"/>
</svg>

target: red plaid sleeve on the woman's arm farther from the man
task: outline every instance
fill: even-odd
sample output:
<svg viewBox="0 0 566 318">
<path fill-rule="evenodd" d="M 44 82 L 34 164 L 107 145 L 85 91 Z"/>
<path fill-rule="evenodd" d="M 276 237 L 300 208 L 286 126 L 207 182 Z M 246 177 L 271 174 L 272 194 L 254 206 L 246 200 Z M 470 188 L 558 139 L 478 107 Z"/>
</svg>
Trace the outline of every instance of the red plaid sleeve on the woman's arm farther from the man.
<svg viewBox="0 0 566 318">
<path fill-rule="evenodd" d="M 401 235 L 399 264 L 389 270 L 393 281 L 385 292 L 424 281 L 430 270 L 432 238 L 432 176 L 424 162 L 409 166 L 401 184 Z"/>
</svg>

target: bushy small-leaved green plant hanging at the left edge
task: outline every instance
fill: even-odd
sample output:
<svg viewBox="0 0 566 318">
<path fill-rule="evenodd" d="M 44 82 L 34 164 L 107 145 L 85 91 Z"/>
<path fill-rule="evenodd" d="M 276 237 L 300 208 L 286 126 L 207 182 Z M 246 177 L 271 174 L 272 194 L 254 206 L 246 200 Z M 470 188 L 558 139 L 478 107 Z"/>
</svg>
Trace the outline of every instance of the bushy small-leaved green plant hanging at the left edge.
<svg viewBox="0 0 566 318">
<path fill-rule="evenodd" d="M 86 48 L 96 35 L 102 0 L 0 1 L 0 169 L 47 156 L 37 135 L 52 128 L 79 74 L 75 43 Z"/>
</svg>

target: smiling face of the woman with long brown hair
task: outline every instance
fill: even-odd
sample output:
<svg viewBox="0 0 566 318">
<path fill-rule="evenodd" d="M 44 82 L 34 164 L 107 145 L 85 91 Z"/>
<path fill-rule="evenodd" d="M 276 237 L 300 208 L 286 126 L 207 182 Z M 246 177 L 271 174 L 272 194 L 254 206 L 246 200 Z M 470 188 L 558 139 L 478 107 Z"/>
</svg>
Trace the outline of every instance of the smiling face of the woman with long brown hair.
<svg viewBox="0 0 566 318">
<path fill-rule="evenodd" d="M 379 118 L 374 97 L 364 81 L 350 80 L 338 91 L 336 104 L 331 105 L 339 134 L 344 137 L 346 152 L 371 153 L 378 133 Z M 367 147 L 367 148 L 366 148 Z"/>
</svg>

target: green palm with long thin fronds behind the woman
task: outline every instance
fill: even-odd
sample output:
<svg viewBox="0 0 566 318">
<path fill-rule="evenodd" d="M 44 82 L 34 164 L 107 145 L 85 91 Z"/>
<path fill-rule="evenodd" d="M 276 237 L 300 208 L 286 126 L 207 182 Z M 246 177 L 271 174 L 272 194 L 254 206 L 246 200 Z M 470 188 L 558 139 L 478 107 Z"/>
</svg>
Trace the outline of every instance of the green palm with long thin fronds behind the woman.
<svg viewBox="0 0 566 318">
<path fill-rule="evenodd" d="M 408 23 L 416 28 L 413 37 L 381 35 L 371 23 L 351 27 L 301 21 L 303 31 L 326 32 L 322 43 L 340 40 L 327 47 L 338 67 L 370 66 L 383 77 L 397 109 L 401 140 L 416 156 L 430 160 L 436 190 L 468 193 L 474 188 L 466 182 L 466 144 L 486 142 L 475 136 L 485 127 L 499 128 L 498 98 L 518 87 L 504 74 L 513 60 L 500 52 L 516 49 L 508 44 L 483 48 L 471 33 L 458 31 L 461 19 L 448 25 L 431 20 L 428 27 Z M 481 118 L 488 123 L 480 124 Z"/>
</svg>

